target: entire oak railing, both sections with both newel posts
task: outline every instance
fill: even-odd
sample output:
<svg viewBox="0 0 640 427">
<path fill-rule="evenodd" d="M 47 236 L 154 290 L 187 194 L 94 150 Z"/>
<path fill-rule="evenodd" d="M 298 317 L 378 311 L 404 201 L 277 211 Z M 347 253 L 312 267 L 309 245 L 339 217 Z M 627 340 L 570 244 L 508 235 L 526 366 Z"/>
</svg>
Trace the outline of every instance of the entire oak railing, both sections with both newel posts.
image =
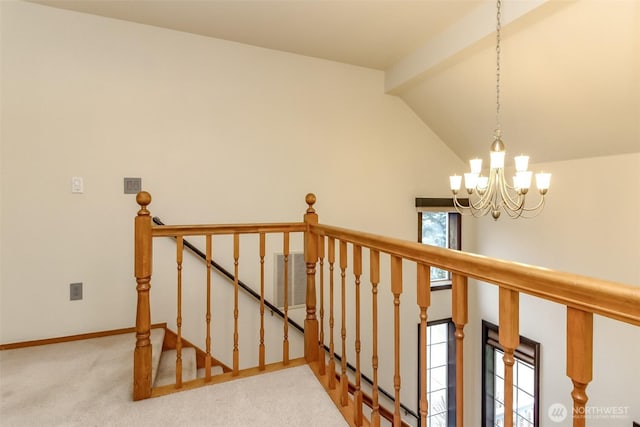
<svg viewBox="0 0 640 427">
<path fill-rule="evenodd" d="M 452 317 L 455 325 L 456 339 L 456 425 L 464 425 L 463 420 L 463 351 L 464 327 L 468 322 L 467 291 L 468 279 L 479 280 L 492 284 L 499 289 L 499 342 L 504 348 L 505 362 L 505 425 L 512 424 L 513 412 L 513 351 L 519 341 L 519 295 L 525 293 L 544 300 L 567 307 L 567 375 L 573 382 L 571 396 L 574 402 L 574 426 L 584 426 L 584 417 L 575 414 L 584 413 L 587 402 L 586 388 L 592 379 L 593 353 L 593 315 L 609 317 L 611 319 L 640 326 L 640 288 L 632 285 L 614 283 L 593 279 L 575 274 L 551 271 L 539 267 L 516 264 L 508 261 L 492 259 L 479 255 L 453 251 L 444 248 L 427 246 L 419 243 L 403 241 L 369 233 L 348 230 L 344 228 L 323 225 L 318 222 L 318 215 L 314 209 L 316 198 L 309 194 L 306 197 L 308 205 L 302 223 L 283 224 L 238 224 L 238 225 L 193 225 L 193 226 L 165 226 L 152 227 L 147 206 L 151 201 L 148 193 L 138 194 L 137 201 L 141 206 L 136 218 L 136 280 L 138 304 L 136 316 L 137 340 L 134 353 L 134 398 L 142 399 L 151 395 L 150 364 L 151 352 L 149 347 L 149 289 L 151 284 L 151 251 L 152 238 L 156 236 L 188 236 L 231 234 L 234 236 L 234 263 L 237 278 L 237 239 L 243 233 L 304 233 L 304 250 L 307 274 L 306 317 L 304 337 L 304 358 L 314 369 L 320 382 L 325 386 L 338 408 L 342 411 L 350 425 L 380 425 L 378 387 L 380 375 L 392 380 L 395 393 L 395 407 L 393 425 L 400 426 L 400 396 L 401 381 L 401 349 L 402 331 L 400 324 L 401 301 L 402 310 L 415 310 L 417 323 L 420 325 L 422 342 L 426 342 L 427 313 L 430 306 L 430 268 L 439 268 L 452 273 Z M 284 235 L 284 234 L 283 234 Z M 286 239 L 286 237 L 285 237 Z M 336 259 L 336 246 L 338 258 Z M 263 254 L 261 249 L 261 254 Z M 349 266 L 351 254 L 351 266 Z M 368 255 L 368 257 L 367 257 Z M 381 277 L 381 256 L 389 261 L 388 277 Z M 325 265 L 324 260 L 328 261 Z M 367 363 L 366 371 L 373 374 L 373 388 L 371 395 L 371 419 L 362 415 L 362 392 L 359 390 L 360 378 L 363 374 L 361 366 L 361 316 L 363 307 L 361 299 L 362 263 L 369 264 L 368 280 L 370 282 L 371 304 L 365 304 L 364 309 L 371 313 L 371 361 Z M 336 291 L 334 274 L 337 273 L 335 263 L 338 261 L 340 275 L 340 289 Z M 320 321 L 316 317 L 317 299 L 317 266 L 320 272 Z M 413 264 L 412 269 L 405 268 Z M 328 269 L 328 289 L 325 280 Z M 348 272 L 352 275 L 348 278 Z M 411 274 L 410 274 L 411 272 Z M 405 274 L 407 273 L 407 274 Z M 413 280 L 411 277 L 413 275 Z M 237 279 L 236 279 L 237 280 Z M 414 281 L 416 286 L 416 300 L 407 307 L 406 294 L 403 299 L 403 285 Z M 353 286 L 351 284 L 353 283 Z M 261 287 L 262 289 L 262 287 Z M 336 294 L 340 293 L 340 307 L 336 309 Z M 354 307 L 346 304 L 347 295 L 353 295 Z M 384 296 L 384 298 L 381 298 Z M 325 334 L 324 306 L 325 297 L 328 298 L 329 331 Z M 387 301 L 392 304 L 392 337 L 382 337 L 379 328 L 379 314 L 381 304 Z M 415 307 L 415 308 L 413 308 Z M 351 311 L 353 308 L 353 311 Z M 347 324 L 347 319 L 353 313 L 354 324 Z M 262 310 L 261 310 L 262 311 Z M 237 305 L 234 309 L 234 323 L 237 323 Z M 340 372 L 337 370 L 335 350 L 336 322 L 340 322 L 341 347 Z M 368 325 L 367 325 L 367 328 Z M 353 347 L 347 348 L 347 333 L 354 332 L 354 338 L 349 340 Z M 234 328 L 234 336 L 238 333 Z M 381 341 L 385 340 L 386 341 Z M 329 354 L 325 355 L 325 340 L 329 341 Z M 287 332 L 284 331 L 283 360 L 286 356 Z M 381 355 L 378 353 L 383 345 L 393 348 L 392 369 L 382 372 Z M 260 348 L 264 345 L 261 338 Z M 237 339 L 234 338 L 234 372 L 236 363 Z M 328 356 L 328 362 L 327 357 Z M 355 359 L 355 383 L 353 397 L 349 396 L 349 381 L 345 364 L 347 358 Z M 428 416 L 428 402 L 426 399 L 426 354 L 421 349 L 420 366 L 418 369 L 422 394 L 419 396 L 419 418 L 421 425 L 426 425 Z M 336 382 L 338 375 L 339 382 Z M 390 377 L 389 377 L 390 376 Z"/>
</svg>

